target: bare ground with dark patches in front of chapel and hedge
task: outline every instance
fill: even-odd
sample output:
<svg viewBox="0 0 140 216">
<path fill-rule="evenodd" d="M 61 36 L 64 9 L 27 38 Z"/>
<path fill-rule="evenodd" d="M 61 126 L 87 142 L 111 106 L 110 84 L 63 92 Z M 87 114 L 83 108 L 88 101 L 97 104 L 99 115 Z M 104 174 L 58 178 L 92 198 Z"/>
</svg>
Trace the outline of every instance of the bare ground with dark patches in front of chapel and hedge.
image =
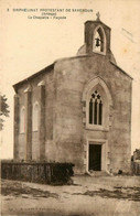
<svg viewBox="0 0 140 216">
<path fill-rule="evenodd" d="M 2 215 L 140 216 L 140 176 L 75 176 L 74 185 L 2 181 Z"/>
</svg>

